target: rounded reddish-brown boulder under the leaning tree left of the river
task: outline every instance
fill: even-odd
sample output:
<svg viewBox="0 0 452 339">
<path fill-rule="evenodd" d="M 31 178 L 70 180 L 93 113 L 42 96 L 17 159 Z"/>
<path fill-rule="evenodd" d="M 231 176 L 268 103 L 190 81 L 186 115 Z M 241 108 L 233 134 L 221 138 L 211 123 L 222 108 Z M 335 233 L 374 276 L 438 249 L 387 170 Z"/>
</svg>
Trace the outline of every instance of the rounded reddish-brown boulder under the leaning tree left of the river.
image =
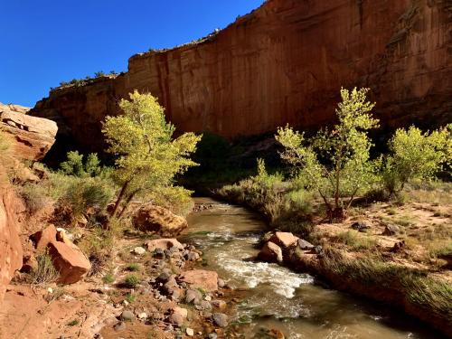
<svg viewBox="0 0 452 339">
<path fill-rule="evenodd" d="M 180 234 L 188 227 L 184 217 L 154 204 L 142 206 L 133 218 L 139 231 L 154 232 L 164 237 Z"/>
</svg>

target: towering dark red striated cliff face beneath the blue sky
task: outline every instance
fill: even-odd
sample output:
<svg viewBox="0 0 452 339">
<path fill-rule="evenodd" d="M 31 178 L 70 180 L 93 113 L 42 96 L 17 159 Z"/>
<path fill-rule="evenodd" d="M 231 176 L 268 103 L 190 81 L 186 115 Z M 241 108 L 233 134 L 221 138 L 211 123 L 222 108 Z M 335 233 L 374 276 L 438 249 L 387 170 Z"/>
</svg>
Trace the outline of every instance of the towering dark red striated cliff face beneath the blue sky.
<svg viewBox="0 0 452 339">
<path fill-rule="evenodd" d="M 232 138 L 330 123 L 339 89 L 366 86 L 383 126 L 438 126 L 452 120 L 451 17 L 447 0 L 268 0 L 202 42 L 133 56 L 118 77 L 54 89 L 33 114 L 95 151 L 133 89 L 179 130 Z"/>
</svg>

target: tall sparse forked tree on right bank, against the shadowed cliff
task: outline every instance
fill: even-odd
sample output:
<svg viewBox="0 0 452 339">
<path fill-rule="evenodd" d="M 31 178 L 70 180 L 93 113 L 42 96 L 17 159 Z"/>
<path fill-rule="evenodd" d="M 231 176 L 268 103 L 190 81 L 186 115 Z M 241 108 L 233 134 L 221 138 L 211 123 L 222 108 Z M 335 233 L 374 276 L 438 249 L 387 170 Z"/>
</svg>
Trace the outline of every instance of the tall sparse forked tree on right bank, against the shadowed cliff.
<svg viewBox="0 0 452 339">
<path fill-rule="evenodd" d="M 282 159 L 296 168 L 307 188 L 320 193 L 330 221 L 344 219 L 344 210 L 372 177 L 367 131 L 378 127 L 378 120 L 370 114 L 374 104 L 366 99 L 368 90 L 341 89 L 339 123 L 310 140 L 291 127 L 278 128 L 276 139 L 286 148 Z"/>
</svg>

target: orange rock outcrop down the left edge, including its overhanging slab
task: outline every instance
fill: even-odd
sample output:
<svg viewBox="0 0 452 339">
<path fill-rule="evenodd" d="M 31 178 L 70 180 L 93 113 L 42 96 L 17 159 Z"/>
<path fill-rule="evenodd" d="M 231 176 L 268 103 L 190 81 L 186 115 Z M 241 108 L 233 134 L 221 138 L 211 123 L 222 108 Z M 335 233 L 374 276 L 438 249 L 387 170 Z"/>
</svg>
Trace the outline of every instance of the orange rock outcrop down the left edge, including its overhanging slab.
<svg viewBox="0 0 452 339">
<path fill-rule="evenodd" d="M 57 132 L 53 121 L 25 116 L 26 111 L 21 106 L 0 104 L 0 137 L 10 139 L 9 147 L 0 151 L 0 303 L 14 272 L 23 265 L 19 235 L 25 207 L 7 174 L 12 169 L 18 174 L 24 168 L 22 160 L 41 159 Z"/>
</svg>

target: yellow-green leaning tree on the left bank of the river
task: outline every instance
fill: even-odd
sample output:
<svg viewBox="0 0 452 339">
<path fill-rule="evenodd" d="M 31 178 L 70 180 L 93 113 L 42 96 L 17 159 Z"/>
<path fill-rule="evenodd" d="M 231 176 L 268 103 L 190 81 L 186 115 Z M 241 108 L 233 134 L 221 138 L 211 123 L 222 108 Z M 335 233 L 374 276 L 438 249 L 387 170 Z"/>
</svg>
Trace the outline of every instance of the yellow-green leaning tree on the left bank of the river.
<svg viewBox="0 0 452 339">
<path fill-rule="evenodd" d="M 137 193 L 152 197 L 159 192 L 172 195 L 168 191 L 174 191 L 173 196 L 180 196 L 181 188 L 174 187 L 174 176 L 197 165 L 189 156 L 201 136 L 184 133 L 173 138 L 174 126 L 165 121 L 164 108 L 151 94 L 135 90 L 130 100 L 119 102 L 119 107 L 124 115 L 107 117 L 102 132 L 110 145 L 108 152 L 118 156 L 114 176 L 121 190 L 111 216 L 121 217 Z"/>
</svg>

